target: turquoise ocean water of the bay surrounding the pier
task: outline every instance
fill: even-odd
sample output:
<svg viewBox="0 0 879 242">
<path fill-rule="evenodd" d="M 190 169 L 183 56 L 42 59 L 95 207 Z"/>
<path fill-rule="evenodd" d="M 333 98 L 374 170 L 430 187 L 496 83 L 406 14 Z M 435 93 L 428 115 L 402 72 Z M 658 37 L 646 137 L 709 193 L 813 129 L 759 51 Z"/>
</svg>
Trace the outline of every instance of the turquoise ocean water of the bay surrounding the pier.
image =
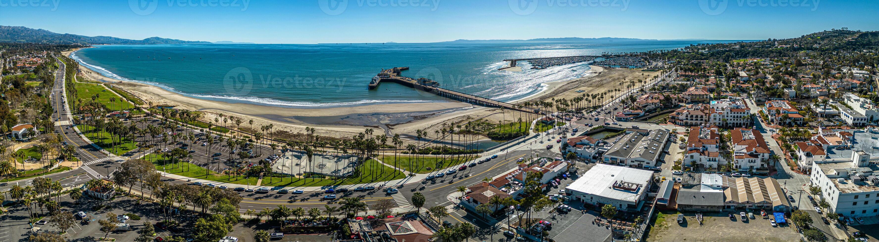
<svg viewBox="0 0 879 242">
<path fill-rule="evenodd" d="M 120 80 L 145 82 L 186 96 L 229 103 L 321 108 L 374 103 L 447 101 L 394 83 L 367 89 L 381 68 L 442 88 L 517 100 L 541 83 L 577 78 L 587 63 L 522 72 L 499 71 L 505 59 L 630 53 L 726 41 L 321 44 L 110 45 L 79 50 L 84 66 Z"/>
</svg>

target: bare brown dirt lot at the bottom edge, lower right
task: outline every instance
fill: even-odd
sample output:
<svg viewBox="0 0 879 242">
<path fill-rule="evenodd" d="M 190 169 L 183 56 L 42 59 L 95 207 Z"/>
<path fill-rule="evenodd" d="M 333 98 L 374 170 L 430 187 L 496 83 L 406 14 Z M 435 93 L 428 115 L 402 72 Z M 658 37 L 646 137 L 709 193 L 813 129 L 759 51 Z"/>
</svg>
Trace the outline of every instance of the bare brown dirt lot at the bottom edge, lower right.
<svg viewBox="0 0 879 242">
<path fill-rule="evenodd" d="M 759 216 L 742 222 L 738 217 L 730 220 L 726 213 L 703 214 L 705 220 L 700 226 L 692 212 L 684 212 L 686 223 L 678 224 L 677 213 L 660 212 L 647 241 L 800 241 L 795 228 L 772 227 L 769 219 Z"/>
</svg>

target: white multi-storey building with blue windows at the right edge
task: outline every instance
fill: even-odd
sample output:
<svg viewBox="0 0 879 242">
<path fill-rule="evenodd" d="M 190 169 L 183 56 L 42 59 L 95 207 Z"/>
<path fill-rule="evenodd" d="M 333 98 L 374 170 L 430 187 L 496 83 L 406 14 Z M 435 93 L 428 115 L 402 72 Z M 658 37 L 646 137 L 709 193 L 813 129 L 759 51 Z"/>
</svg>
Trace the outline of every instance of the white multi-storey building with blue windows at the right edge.
<svg viewBox="0 0 879 242">
<path fill-rule="evenodd" d="M 845 217 L 879 215 L 879 167 L 870 164 L 870 156 L 856 150 L 851 160 L 816 163 L 812 167 L 810 185 L 821 188 L 820 198 L 830 203 L 826 212 Z"/>
</svg>

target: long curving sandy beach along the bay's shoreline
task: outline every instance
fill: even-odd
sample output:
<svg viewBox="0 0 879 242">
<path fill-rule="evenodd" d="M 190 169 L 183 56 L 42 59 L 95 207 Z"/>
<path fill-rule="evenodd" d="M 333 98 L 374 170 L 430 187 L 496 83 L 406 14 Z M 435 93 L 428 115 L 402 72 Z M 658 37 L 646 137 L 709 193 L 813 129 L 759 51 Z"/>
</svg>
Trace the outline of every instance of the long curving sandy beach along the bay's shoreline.
<svg viewBox="0 0 879 242">
<path fill-rule="evenodd" d="M 75 50 L 73 50 L 75 51 Z M 64 52 L 69 56 L 73 51 Z M 173 106 L 176 109 L 200 110 L 205 113 L 203 121 L 214 120 L 218 114 L 226 116 L 243 117 L 244 124 L 236 127 L 229 123 L 231 128 L 253 132 L 251 125 L 247 124 L 250 119 L 254 120 L 254 127 L 274 124 L 278 138 L 295 139 L 305 133 L 305 127 L 316 128 L 316 134 L 322 137 L 350 138 L 357 132 L 363 132 L 367 128 L 385 129 L 385 133 L 414 133 L 416 130 L 439 129 L 441 125 L 466 123 L 469 120 L 483 117 L 490 122 L 512 122 L 517 117 L 516 111 L 486 108 L 461 102 L 445 103 L 392 103 L 372 104 L 352 107 L 335 107 L 325 109 L 297 109 L 291 107 L 258 105 L 251 103 L 227 103 L 222 101 L 207 100 L 191 96 L 181 95 L 160 87 L 140 83 L 126 82 L 101 75 L 90 68 L 80 66 L 80 76 L 99 82 L 110 82 L 113 86 L 125 89 L 138 96 L 152 106 Z M 588 82 L 592 77 L 599 75 L 602 68 L 592 66 L 592 70 L 585 77 L 543 83 L 541 92 L 513 103 L 525 102 L 535 97 L 552 94 L 560 87 L 570 83 Z M 258 132 L 258 130 L 256 131 Z M 381 131 L 379 131 L 381 132 Z"/>
</svg>

